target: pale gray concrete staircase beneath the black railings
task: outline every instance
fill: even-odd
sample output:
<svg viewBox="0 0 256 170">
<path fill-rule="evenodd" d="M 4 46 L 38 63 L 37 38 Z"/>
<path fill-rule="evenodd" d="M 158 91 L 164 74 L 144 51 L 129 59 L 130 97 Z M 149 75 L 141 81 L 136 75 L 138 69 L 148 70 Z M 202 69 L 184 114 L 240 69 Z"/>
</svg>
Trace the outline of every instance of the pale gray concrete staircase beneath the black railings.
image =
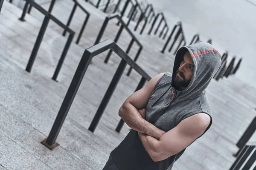
<svg viewBox="0 0 256 170">
<path fill-rule="evenodd" d="M 50 78 L 67 38 L 61 35 L 58 26 L 50 23 L 32 72 L 28 74 L 24 69 L 41 26 L 41 18 L 32 9 L 32 16 L 28 14 L 26 22 L 20 22 L 17 18 L 22 11 L 4 2 L 0 15 L 0 169 L 100 170 L 111 150 L 128 133 L 127 125 L 121 133 L 114 130 L 120 119 L 117 114 L 119 107 L 134 92 L 140 80 L 135 71 L 130 77 L 122 76 L 95 132 L 87 130 L 120 62 L 119 57 L 113 54 L 109 63 L 104 64 L 105 52 L 93 59 L 85 74 L 58 136 L 60 146 L 50 151 L 40 144 L 49 134 L 84 49 L 93 45 L 105 18 L 101 11 L 84 4 L 91 12 L 89 23 L 81 43 L 70 46 L 58 82 L 55 82 Z M 47 4 L 43 6 L 48 8 Z M 63 11 L 71 8 L 70 1 L 59 0 L 52 13 L 64 22 L 68 15 Z M 79 30 L 76 25 L 81 26 L 81 20 L 84 17 L 77 13 L 71 28 Z M 108 26 L 103 40 L 115 36 L 118 27 L 114 23 Z M 131 27 L 133 25 L 131 23 Z M 155 36 L 137 36 L 144 45 L 137 63 L 152 77 L 160 72 L 171 72 L 174 56 L 159 52 L 160 42 L 164 42 Z M 124 31 L 118 45 L 125 49 L 129 40 Z M 136 53 L 135 46 L 131 56 Z M 128 67 L 125 73 L 127 70 Z M 256 89 L 237 77 L 219 82 L 212 80 L 207 89 L 213 113 L 212 127 L 187 148 L 173 169 L 227 170 L 235 160 L 232 153 L 238 150 L 235 146 L 237 140 L 255 115 L 255 94 Z"/>
</svg>

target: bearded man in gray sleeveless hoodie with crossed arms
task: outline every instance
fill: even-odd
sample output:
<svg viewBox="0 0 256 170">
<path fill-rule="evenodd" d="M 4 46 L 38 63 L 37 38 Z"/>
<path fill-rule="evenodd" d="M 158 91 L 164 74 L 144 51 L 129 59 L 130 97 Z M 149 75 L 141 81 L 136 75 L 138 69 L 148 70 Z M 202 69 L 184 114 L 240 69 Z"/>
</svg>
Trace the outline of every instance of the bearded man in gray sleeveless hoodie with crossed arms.
<svg viewBox="0 0 256 170">
<path fill-rule="evenodd" d="M 220 66 L 221 55 L 209 43 L 180 48 L 173 74 L 153 77 L 119 109 L 132 130 L 103 170 L 171 170 L 212 124 L 205 89 Z"/>
</svg>

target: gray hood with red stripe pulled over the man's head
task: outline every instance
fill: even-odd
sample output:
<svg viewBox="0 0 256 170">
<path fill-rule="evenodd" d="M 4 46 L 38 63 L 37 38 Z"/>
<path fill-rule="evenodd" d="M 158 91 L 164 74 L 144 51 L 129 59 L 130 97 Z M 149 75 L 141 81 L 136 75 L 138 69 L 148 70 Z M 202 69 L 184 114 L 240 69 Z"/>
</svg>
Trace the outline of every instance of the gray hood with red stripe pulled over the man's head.
<svg viewBox="0 0 256 170">
<path fill-rule="evenodd" d="M 181 47 L 175 56 L 173 67 L 172 87 L 175 88 L 174 74 L 180 66 L 182 57 L 189 51 L 190 56 L 194 62 L 194 70 L 192 79 L 186 89 L 180 91 L 181 94 L 177 98 L 180 99 L 193 99 L 205 93 L 205 89 L 209 82 L 216 74 L 221 66 L 221 54 L 209 43 L 198 42 L 186 47 Z M 175 88 L 176 89 L 176 88 Z"/>
</svg>

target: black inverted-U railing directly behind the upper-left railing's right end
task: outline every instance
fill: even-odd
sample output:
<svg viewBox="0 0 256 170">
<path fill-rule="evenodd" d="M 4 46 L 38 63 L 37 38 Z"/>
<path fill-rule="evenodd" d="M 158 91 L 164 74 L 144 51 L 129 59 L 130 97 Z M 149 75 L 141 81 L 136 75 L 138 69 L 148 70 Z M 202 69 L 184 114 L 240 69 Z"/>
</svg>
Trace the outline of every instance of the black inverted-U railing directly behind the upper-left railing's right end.
<svg viewBox="0 0 256 170">
<path fill-rule="evenodd" d="M 79 36 L 77 37 L 77 40 L 76 40 L 76 44 L 78 44 L 79 41 L 80 41 L 80 39 L 81 39 L 81 36 L 82 36 L 82 34 L 83 34 L 83 32 L 84 32 L 84 28 L 85 28 L 85 26 L 86 26 L 86 24 L 87 24 L 87 22 L 88 22 L 88 20 L 89 20 L 90 13 L 89 13 L 86 9 L 84 9 L 84 7 L 81 6 L 81 4 L 80 4 L 79 2 L 77 2 L 76 0 L 73 0 L 73 2 L 74 2 L 75 4 L 74 4 L 74 6 L 73 6 L 73 8 L 72 8 L 72 11 L 71 11 L 71 13 L 70 13 L 70 17 L 69 17 L 68 20 L 67 20 L 67 25 L 66 25 L 67 27 L 70 26 L 70 23 L 71 23 L 71 21 L 72 21 L 72 19 L 73 19 L 73 16 L 74 16 L 74 14 L 75 14 L 75 11 L 76 11 L 77 6 L 78 6 L 82 11 L 84 11 L 84 13 L 86 14 L 84 23 L 83 23 L 83 25 L 82 25 L 82 27 L 81 27 L 81 30 L 80 30 L 80 32 L 79 32 Z M 64 29 L 62 35 L 65 36 L 66 33 L 67 33 L 67 30 Z"/>
</svg>

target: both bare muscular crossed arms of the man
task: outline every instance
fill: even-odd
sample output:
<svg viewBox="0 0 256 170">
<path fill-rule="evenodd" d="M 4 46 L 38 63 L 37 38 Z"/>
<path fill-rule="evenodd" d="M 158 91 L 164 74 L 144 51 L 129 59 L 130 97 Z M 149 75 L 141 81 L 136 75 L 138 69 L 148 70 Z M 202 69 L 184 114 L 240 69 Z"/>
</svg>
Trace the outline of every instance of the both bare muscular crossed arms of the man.
<svg viewBox="0 0 256 170">
<path fill-rule="evenodd" d="M 119 116 L 125 123 L 138 131 L 140 140 L 153 161 L 161 161 L 179 153 L 201 136 L 210 123 L 210 117 L 206 113 L 190 116 L 168 132 L 147 122 L 145 113 L 140 109 L 145 107 L 154 86 L 162 76 L 163 73 L 152 78 L 145 87 L 128 97 L 119 109 Z"/>
</svg>

